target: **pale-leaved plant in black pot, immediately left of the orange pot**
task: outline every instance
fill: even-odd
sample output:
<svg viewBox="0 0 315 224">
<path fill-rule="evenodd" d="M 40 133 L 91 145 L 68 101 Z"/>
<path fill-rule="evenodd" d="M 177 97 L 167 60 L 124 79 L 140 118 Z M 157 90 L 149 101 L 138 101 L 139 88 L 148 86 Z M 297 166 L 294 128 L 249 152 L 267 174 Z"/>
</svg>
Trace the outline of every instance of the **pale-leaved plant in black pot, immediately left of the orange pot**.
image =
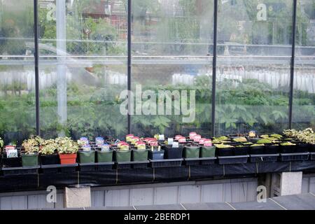
<svg viewBox="0 0 315 224">
<path fill-rule="evenodd" d="M 59 164 L 59 155 L 56 153 L 57 143 L 55 139 L 48 139 L 43 141 L 40 146 L 39 153 L 42 165 Z"/>
</svg>

